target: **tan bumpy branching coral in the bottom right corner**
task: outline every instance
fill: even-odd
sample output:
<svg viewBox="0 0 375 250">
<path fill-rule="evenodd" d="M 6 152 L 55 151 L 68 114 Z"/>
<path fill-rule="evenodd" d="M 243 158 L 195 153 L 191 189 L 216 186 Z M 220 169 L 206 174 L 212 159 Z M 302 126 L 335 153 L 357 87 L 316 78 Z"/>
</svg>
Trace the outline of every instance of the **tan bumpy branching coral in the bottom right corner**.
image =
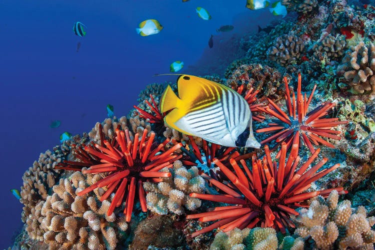
<svg viewBox="0 0 375 250">
<path fill-rule="evenodd" d="M 318 196 L 312 199 L 308 209 L 302 208 L 296 217 L 298 227 L 295 234 L 311 236 L 320 249 L 373 249 L 375 231 L 371 226 L 375 217 L 366 218 L 366 209 L 358 206 L 352 213 L 350 201 L 338 201 L 337 191 L 332 191 L 326 200 Z"/>
</svg>

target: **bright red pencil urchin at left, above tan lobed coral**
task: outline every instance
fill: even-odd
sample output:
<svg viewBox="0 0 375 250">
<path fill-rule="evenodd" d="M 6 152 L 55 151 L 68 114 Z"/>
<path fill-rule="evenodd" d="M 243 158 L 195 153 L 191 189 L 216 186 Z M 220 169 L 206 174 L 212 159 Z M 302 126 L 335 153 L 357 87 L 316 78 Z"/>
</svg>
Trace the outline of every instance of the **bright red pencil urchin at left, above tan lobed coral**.
<svg viewBox="0 0 375 250">
<path fill-rule="evenodd" d="M 169 139 L 165 139 L 164 142 L 151 150 L 151 146 L 154 146 L 155 133 L 151 132 L 151 135 L 147 137 L 147 129 L 143 130 L 141 138 L 136 133 L 134 138 L 130 139 L 127 129 L 121 131 L 117 128 L 115 129 L 115 133 L 115 139 L 111 142 L 100 137 L 102 141 L 101 145 L 92 143 L 91 145 L 84 146 L 82 153 L 87 155 L 87 157 L 96 158 L 96 163 L 90 164 L 89 169 L 82 170 L 82 173 L 107 172 L 109 175 L 78 192 L 78 195 L 88 193 L 97 187 L 106 186 L 107 190 L 100 197 L 100 201 L 103 201 L 112 192 L 115 192 L 107 211 L 107 215 L 109 216 L 115 207 L 120 206 L 126 193 L 126 205 L 123 213 L 128 222 L 131 218 L 135 193 L 138 193 L 142 210 L 147 211 L 142 185 L 143 181 L 146 179 L 150 181 L 162 181 L 160 177 L 169 177 L 171 175 L 169 172 L 159 172 L 159 170 L 163 167 L 172 167 L 172 163 L 182 157 L 182 155 L 173 154 L 182 144 L 177 143 L 168 150 L 161 152 L 165 144 L 169 142 Z M 156 155 L 159 152 L 161 153 Z M 87 165 L 87 162 L 83 163 Z M 68 162 L 67 167 L 59 166 L 58 168 L 80 170 L 78 169 L 80 163 L 76 162 L 77 166 L 74 166 L 74 162 Z M 136 185 L 137 190 L 135 190 Z"/>
</svg>

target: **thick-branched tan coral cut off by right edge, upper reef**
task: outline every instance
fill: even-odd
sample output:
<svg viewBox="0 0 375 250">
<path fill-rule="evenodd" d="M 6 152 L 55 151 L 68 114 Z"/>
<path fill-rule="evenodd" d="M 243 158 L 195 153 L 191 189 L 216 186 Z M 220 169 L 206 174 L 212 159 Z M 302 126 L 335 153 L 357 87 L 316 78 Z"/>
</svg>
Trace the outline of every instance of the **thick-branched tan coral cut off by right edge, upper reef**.
<svg viewBox="0 0 375 250">
<path fill-rule="evenodd" d="M 347 50 L 337 71 L 352 87 L 353 93 L 375 91 L 375 45 L 363 41 Z"/>
</svg>

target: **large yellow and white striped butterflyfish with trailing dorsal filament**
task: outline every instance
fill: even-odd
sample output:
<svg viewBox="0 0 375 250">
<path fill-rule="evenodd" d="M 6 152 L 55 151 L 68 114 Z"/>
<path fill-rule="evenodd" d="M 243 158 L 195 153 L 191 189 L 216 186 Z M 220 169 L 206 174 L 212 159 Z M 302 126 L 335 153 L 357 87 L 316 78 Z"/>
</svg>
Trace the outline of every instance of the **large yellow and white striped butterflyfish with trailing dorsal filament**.
<svg viewBox="0 0 375 250">
<path fill-rule="evenodd" d="M 236 91 L 188 74 L 177 78 L 177 88 L 178 96 L 168 85 L 160 101 L 161 112 L 170 110 L 164 117 L 168 126 L 223 146 L 260 147 L 250 108 Z"/>
</svg>

